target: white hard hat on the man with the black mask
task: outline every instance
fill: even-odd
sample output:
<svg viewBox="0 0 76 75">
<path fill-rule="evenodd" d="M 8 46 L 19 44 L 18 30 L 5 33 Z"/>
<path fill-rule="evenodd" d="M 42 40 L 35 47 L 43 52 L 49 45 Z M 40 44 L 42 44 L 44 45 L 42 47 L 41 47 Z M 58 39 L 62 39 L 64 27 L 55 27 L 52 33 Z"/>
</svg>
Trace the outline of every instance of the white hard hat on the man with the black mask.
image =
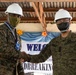
<svg viewBox="0 0 76 75">
<path fill-rule="evenodd" d="M 72 16 L 70 15 L 70 13 L 67 10 L 59 9 L 55 14 L 54 21 L 56 21 L 58 19 L 62 19 L 62 18 L 70 18 L 72 20 Z"/>
</svg>

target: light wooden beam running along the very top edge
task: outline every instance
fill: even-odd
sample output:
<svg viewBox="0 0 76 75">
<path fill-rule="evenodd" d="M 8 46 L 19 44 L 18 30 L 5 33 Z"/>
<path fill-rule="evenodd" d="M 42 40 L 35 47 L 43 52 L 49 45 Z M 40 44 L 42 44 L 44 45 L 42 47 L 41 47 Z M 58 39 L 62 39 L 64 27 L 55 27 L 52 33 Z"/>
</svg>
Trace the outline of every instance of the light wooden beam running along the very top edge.
<svg viewBox="0 0 76 75">
<path fill-rule="evenodd" d="M 76 0 L 0 0 L 0 2 L 76 2 Z"/>
</svg>

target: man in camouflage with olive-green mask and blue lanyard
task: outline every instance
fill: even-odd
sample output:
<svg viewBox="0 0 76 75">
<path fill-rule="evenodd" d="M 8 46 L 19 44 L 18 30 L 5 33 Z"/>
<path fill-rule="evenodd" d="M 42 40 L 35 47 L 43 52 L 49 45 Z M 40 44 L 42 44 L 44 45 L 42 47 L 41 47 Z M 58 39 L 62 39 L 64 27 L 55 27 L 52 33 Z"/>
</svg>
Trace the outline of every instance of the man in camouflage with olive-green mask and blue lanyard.
<svg viewBox="0 0 76 75">
<path fill-rule="evenodd" d="M 0 25 L 0 75 L 24 75 L 21 65 L 21 44 L 16 26 L 23 16 L 17 3 L 9 5 L 5 11 L 6 22 Z"/>
</svg>

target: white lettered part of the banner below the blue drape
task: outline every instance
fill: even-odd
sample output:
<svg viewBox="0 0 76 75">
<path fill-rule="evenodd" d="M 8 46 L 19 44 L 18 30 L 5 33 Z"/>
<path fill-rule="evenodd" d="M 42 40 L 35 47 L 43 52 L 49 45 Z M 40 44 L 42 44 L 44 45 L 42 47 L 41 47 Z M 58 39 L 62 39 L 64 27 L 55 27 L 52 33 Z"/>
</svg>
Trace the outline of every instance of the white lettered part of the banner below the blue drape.
<svg viewBox="0 0 76 75">
<path fill-rule="evenodd" d="M 21 51 L 25 51 L 27 54 L 39 54 L 42 48 L 46 46 L 48 42 L 26 42 L 24 40 L 22 42 L 22 49 Z M 52 56 L 50 56 L 45 62 L 43 63 L 29 63 L 25 62 L 23 64 L 24 72 L 38 72 L 38 73 L 49 73 L 52 74 Z"/>
</svg>

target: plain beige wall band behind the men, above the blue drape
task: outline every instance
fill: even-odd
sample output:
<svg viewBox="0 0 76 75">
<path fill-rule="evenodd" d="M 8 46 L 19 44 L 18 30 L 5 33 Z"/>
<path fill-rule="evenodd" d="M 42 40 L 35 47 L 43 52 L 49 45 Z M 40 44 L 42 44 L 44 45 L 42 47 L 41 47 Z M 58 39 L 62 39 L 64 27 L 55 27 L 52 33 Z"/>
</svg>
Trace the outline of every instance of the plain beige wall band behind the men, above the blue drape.
<svg viewBox="0 0 76 75">
<path fill-rule="evenodd" d="M 17 26 L 17 29 L 21 29 L 25 32 L 42 32 L 43 27 L 40 23 L 20 23 Z M 76 24 L 71 24 L 70 29 L 73 32 L 76 32 Z M 56 27 L 56 24 L 47 24 L 47 31 L 49 32 L 59 32 Z"/>
</svg>

